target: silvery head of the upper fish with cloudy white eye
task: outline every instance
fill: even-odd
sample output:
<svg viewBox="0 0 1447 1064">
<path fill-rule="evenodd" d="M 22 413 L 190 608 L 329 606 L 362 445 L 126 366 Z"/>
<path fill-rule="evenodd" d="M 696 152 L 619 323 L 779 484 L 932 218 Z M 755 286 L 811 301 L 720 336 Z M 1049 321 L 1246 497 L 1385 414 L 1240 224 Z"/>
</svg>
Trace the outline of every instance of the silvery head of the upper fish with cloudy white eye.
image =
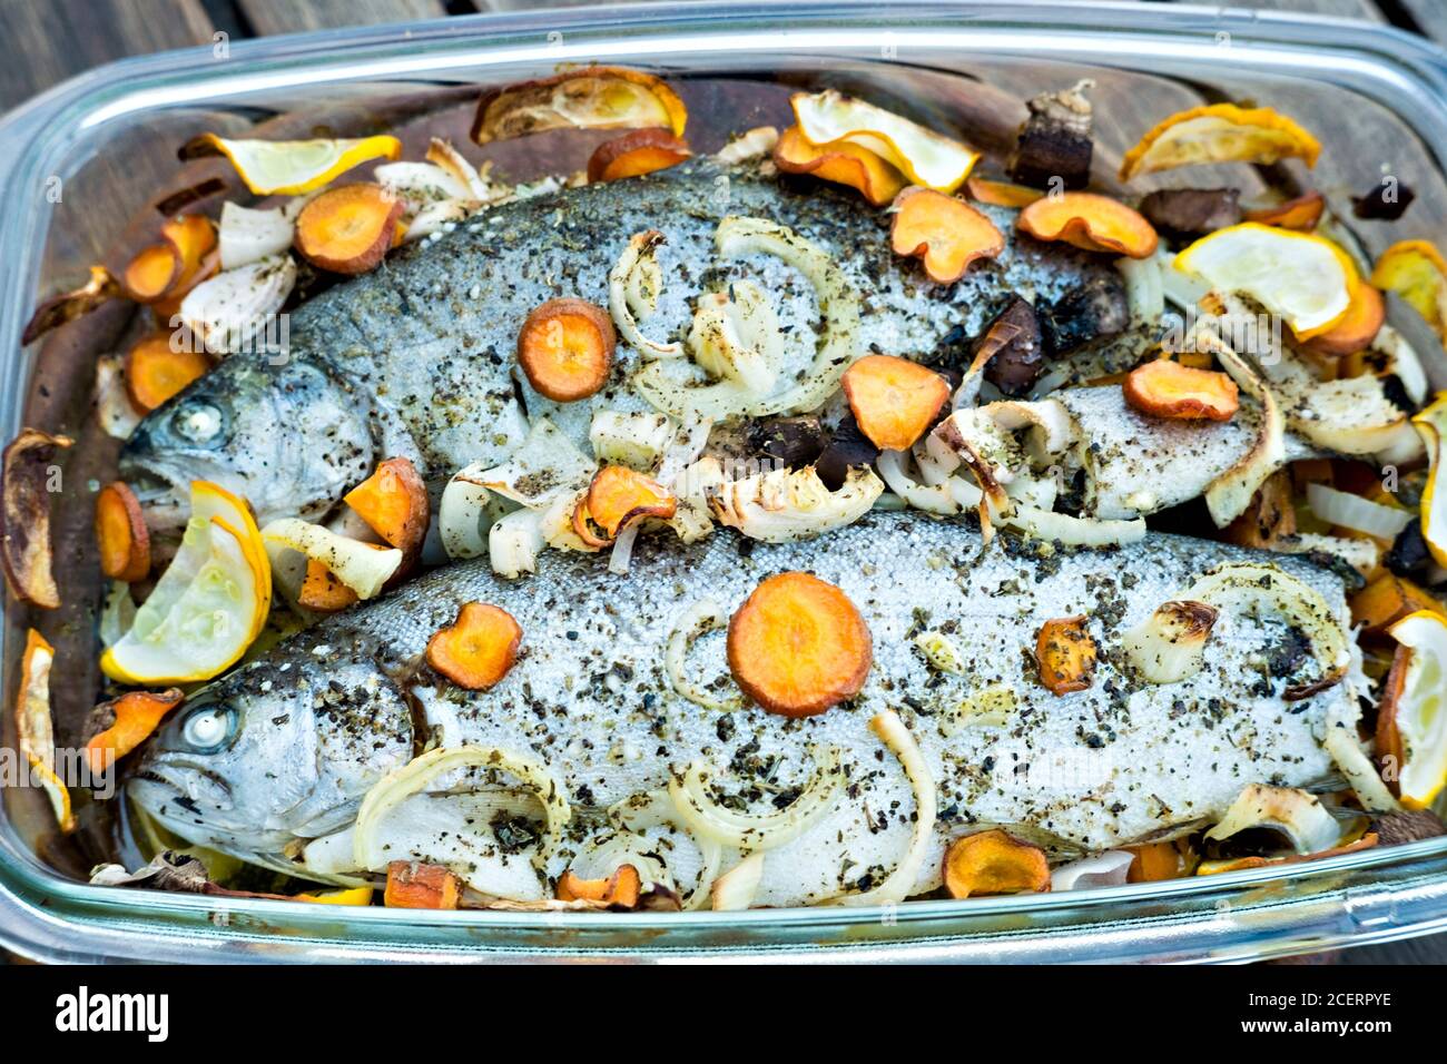
<svg viewBox="0 0 1447 1064">
<path fill-rule="evenodd" d="M 376 465 L 372 405 L 318 360 L 233 355 L 142 420 L 120 478 L 162 534 L 184 527 L 192 481 L 240 495 L 262 524 L 317 520 Z"/>
</svg>

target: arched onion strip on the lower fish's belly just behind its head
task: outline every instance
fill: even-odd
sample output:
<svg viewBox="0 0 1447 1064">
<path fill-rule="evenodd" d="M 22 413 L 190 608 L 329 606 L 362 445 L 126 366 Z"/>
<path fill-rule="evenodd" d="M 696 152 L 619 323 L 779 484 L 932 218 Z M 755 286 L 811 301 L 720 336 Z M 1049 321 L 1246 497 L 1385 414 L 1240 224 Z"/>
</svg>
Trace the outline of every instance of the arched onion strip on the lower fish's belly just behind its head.
<svg viewBox="0 0 1447 1064">
<path fill-rule="evenodd" d="M 369 870 L 385 867 L 386 854 L 378 851 L 373 844 L 382 818 L 405 799 L 425 790 L 427 785 L 438 776 L 467 767 L 505 772 L 527 783 L 537 793 L 543 803 L 544 834 L 532 864 L 541 869 L 547 857 L 557 848 L 563 828 L 573 816 L 563 786 L 535 757 L 482 746 L 438 747 L 414 757 L 401 769 L 394 769 L 378 780 L 366 792 L 362 808 L 357 811 L 356 835 L 353 837 L 356 866 Z"/>
</svg>

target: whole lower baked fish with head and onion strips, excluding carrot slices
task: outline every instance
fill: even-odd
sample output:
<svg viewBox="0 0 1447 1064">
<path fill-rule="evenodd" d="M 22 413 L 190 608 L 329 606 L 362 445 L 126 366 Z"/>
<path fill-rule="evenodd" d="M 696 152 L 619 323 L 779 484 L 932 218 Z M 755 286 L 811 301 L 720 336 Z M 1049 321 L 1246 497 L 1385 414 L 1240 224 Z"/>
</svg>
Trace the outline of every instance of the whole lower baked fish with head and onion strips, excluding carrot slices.
<svg viewBox="0 0 1447 1064">
<path fill-rule="evenodd" d="M 748 900 L 783 906 L 928 893 L 946 844 L 983 825 L 1052 860 L 1182 834 L 1246 785 L 1338 780 L 1333 731 L 1360 756 L 1343 583 L 1299 559 L 1158 533 L 1104 552 L 985 544 L 912 512 L 874 512 L 826 544 L 744 543 L 645 539 L 631 576 L 566 552 L 522 583 L 476 562 L 436 570 L 198 692 L 130 795 L 191 843 L 302 877 L 421 860 L 508 903 L 551 899 L 564 870 L 627 843 L 703 905 L 757 818 L 770 845 Z M 784 570 L 842 589 L 873 640 L 862 689 L 813 717 L 744 699 L 718 631 Z M 1147 682 L 1132 633 L 1205 595 L 1202 580 L 1233 591 L 1198 670 Z M 512 670 L 480 692 L 424 660 L 469 601 L 522 628 Z M 1033 650 L 1072 615 L 1098 663 L 1085 689 L 1055 695 Z M 891 753 L 901 732 L 922 754 L 910 770 Z M 424 750 L 438 773 L 404 786 Z M 679 827 L 689 793 L 722 811 L 705 841 Z"/>
</svg>

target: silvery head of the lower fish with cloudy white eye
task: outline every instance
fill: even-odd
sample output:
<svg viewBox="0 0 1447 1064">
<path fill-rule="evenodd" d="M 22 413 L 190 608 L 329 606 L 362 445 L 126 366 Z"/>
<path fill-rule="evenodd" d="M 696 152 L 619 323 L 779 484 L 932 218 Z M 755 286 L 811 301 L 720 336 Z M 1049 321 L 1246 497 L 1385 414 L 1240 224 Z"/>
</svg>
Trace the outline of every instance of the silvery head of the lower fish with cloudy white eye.
<svg viewBox="0 0 1447 1064">
<path fill-rule="evenodd" d="M 412 712 L 398 683 L 365 659 L 298 651 L 187 699 L 126 789 L 181 838 L 275 867 L 298 841 L 350 824 L 362 796 L 411 757 Z"/>
</svg>

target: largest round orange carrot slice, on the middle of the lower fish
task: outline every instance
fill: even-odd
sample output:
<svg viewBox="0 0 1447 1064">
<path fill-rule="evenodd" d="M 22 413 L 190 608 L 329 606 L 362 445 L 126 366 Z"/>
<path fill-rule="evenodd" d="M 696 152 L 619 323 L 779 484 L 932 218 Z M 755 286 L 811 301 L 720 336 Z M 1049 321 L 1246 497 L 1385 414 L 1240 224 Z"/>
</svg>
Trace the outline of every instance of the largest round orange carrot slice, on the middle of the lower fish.
<svg viewBox="0 0 1447 1064">
<path fill-rule="evenodd" d="M 854 698 L 873 660 L 870 628 L 854 602 L 809 573 L 770 576 L 729 620 L 734 679 L 781 717 L 813 717 Z"/>
</svg>

